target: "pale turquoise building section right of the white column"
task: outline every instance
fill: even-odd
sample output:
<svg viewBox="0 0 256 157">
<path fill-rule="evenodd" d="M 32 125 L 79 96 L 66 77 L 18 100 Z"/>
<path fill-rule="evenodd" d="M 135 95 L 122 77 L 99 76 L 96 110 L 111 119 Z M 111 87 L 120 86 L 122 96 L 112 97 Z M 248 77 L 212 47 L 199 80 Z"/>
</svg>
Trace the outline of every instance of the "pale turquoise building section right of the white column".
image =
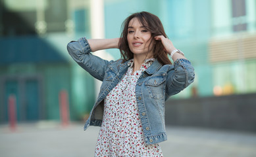
<svg viewBox="0 0 256 157">
<path fill-rule="evenodd" d="M 124 18 L 141 10 L 159 16 L 195 67 L 195 82 L 175 97 L 256 92 L 256 1 L 105 1 L 106 37 L 118 36 Z"/>
</svg>

